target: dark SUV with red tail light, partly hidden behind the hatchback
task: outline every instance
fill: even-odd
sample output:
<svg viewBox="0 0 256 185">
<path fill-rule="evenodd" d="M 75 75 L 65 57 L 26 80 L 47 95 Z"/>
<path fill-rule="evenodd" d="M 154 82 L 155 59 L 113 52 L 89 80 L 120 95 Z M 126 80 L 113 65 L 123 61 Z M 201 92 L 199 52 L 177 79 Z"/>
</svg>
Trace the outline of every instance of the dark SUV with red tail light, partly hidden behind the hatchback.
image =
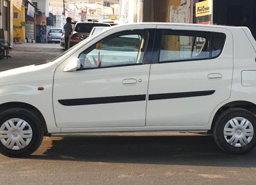
<svg viewBox="0 0 256 185">
<path fill-rule="evenodd" d="M 69 38 L 69 48 L 89 37 L 94 27 L 110 26 L 110 24 L 102 22 L 77 22 Z"/>
</svg>

